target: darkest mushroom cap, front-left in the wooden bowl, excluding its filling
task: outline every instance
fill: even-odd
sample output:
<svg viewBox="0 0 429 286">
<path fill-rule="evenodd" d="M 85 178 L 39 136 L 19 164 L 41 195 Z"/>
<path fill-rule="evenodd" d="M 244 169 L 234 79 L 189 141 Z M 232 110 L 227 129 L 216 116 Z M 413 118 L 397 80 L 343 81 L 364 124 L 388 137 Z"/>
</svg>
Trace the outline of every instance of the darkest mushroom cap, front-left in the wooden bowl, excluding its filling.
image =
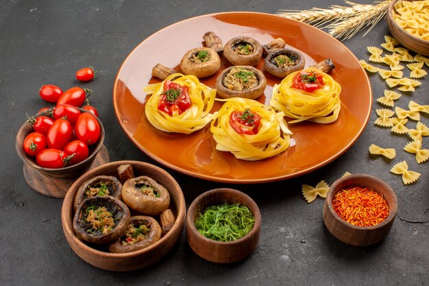
<svg viewBox="0 0 429 286">
<path fill-rule="evenodd" d="M 88 233 L 86 231 L 86 221 L 84 214 L 90 206 L 106 206 L 107 211 L 112 213 L 114 218 L 114 228 L 106 234 Z M 84 200 L 77 206 L 77 211 L 73 219 L 73 230 L 77 237 L 95 244 L 110 243 L 119 239 L 127 230 L 130 223 L 130 210 L 118 198 L 108 195 L 107 197 L 92 197 Z"/>
</svg>

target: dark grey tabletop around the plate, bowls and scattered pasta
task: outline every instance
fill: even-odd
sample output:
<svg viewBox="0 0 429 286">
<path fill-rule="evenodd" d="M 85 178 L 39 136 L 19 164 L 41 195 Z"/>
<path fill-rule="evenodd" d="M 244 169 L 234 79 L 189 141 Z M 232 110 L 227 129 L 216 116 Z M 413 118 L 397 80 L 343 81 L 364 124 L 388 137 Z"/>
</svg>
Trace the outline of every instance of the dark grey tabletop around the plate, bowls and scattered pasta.
<svg viewBox="0 0 429 286">
<path fill-rule="evenodd" d="M 371 1 L 358 1 L 371 3 Z M 62 232 L 61 199 L 30 189 L 23 178 L 23 161 L 15 151 L 15 136 L 25 113 L 46 104 L 38 97 L 42 84 L 64 88 L 78 84 L 77 69 L 93 66 L 97 79 L 82 86 L 93 89 L 92 103 L 106 128 L 110 160 L 158 163 L 140 152 L 119 126 L 112 107 L 112 86 L 123 60 L 154 32 L 183 19 L 224 11 L 273 14 L 279 9 L 328 8 L 343 1 L 0 1 L 0 285 L 427 285 L 429 269 L 428 163 L 417 165 L 402 151 L 407 136 L 393 136 L 374 125 L 376 98 L 387 86 L 370 75 L 371 118 L 360 139 L 334 162 L 310 174 L 265 184 L 225 184 L 199 180 L 168 170 L 181 185 L 189 206 L 200 193 L 234 187 L 250 195 L 262 213 L 260 243 L 244 261 L 219 265 L 197 257 L 186 242 L 143 270 L 117 273 L 87 264 L 71 250 Z M 359 33 L 343 43 L 359 59 L 369 57 L 389 34 L 381 21 L 367 36 Z M 428 67 L 425 67 L 428 71 Z M 351 75 L 352 76 L 352 75 Z M 429 104 L 429 78 L 409 100 Z M 422 122 L 428 124 L 428 116 Z M 411 122 L 410 126 L 413 126 Z M 389 172 L 392 161 L 369 156 L 371 143 L 397 149 L 393 162 L 406 160 L 421 178 L 404 185 Z M 428 140 L 424 138 L 424 147 Z M 321 150 L 322 151 L 322 150 Z M 391 233 L 376 246 L 358 248 L 336 240 L 323 225 L 324 200 L 308 204 L 302 184 L 320 180 L 332 184 L 345 171 L 382 178 L 397 195 L 399 208 Z"/>
</svg>

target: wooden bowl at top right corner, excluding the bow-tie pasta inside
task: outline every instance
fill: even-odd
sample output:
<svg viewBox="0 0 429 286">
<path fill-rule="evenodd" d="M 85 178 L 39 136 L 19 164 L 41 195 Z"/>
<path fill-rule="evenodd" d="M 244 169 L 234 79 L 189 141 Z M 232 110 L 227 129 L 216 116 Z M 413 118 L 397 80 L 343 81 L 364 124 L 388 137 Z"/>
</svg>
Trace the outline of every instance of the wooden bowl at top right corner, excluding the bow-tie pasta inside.
<svg viewBox="0 0 429 286">
<path fill-rule="evenodd" d="M 429 41 L 409 34 L 404 29 L 402 29 L 402 27 L 397 25 L 395 20 L 393 20 L 393 11 L 395 10 L 394 5 L 396 2 L 397 0 L 391 1 L 389 4 L 389 9 L 387 10 L 387 25 L 389 26 L 389 31 L 395 37 L 395 39 L 407 49 L 410 49 L 415 53 L 420 53 L 424 56 L 429 56 Z"/>
</svg>

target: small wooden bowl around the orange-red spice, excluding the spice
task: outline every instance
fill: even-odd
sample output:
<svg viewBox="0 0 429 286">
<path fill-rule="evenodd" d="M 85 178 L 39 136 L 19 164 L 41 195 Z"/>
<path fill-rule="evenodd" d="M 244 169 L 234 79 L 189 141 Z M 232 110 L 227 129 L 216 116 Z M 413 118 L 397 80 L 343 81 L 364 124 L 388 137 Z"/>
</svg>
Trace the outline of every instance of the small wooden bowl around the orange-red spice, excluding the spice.
<svg viewBox="0 0 429 286">
<path fill-rule="evenodd" d="M 332 199 L 336 193 L 347 187 L 369 187 L 381 193 L 389 204 L 388 217 L 375 226 L 354 226 L 345 222 L 334 211 Z M 373 176 L 352 174 L 336 180 L 330 187 L 323 206 L 323 221 L 330 233 L 340 241 L 352 246 L 370 246 L 382 241 L 389 234 L 396 211 L 396 195 L 388 184 Z"/>
</svg>

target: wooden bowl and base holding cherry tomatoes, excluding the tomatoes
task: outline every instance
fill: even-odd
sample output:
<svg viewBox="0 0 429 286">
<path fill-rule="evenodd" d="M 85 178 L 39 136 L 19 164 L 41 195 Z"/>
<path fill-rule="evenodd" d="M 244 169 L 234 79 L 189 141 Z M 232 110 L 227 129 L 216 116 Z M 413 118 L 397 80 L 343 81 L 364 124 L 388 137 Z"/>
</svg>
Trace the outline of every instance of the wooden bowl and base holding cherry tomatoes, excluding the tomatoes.
<svg viewBox="0 0 429 286">
<path fill-rule="evenodd" d="M 79 108 L 80 112 L 88 112 L 83 108 Z M 38 112 L 36 115 L 33 115 L 34 118 L 39 116 L 48 116 L 49 110 Z M 95 117 L 101 127 L 101 135 L 97 144 L 89 145 L 89 156 L 85 160 L 75 165 L 66 166 L 64 168 L 45 168 L 40 167 L 36 163 L 36 158 L 28 156 L 23 149 L 23 142 L 25 137 L 34 132 L 31 123 L 24 123 L 16 134 L 16 152 L 18 152 L 21 159 L 24 161 L 24 176 L 25 180 L 34 191 L 42 193 L 42 195 L 48 195 L 54 198 L 64 198 L 66 190 L 69 189 L 71 182 L 70 180 L 75 180 L 78 176 L 84 174 L 84 172 L 93 165 L 95 161 L 100 163 L 106 163 L 109 161 L 109 155 L 106 150 L 106 147 L 103 145 L 104 141 L 104 128 L 103 123 L 101 123 L 98 117 Z M 99 151 L 101 156 L 97 156 Z"/>
</svg>

